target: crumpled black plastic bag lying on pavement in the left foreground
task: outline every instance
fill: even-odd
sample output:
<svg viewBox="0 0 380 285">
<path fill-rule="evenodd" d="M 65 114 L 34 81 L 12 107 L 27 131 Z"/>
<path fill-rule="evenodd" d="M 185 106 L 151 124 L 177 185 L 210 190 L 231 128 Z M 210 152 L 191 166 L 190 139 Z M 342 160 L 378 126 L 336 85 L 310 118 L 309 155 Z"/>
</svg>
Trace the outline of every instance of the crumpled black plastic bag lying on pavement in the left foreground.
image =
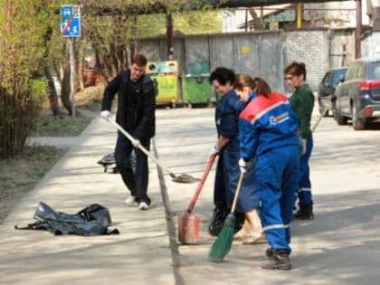
<svg viewBox="0 0 380 285">
<path fill-rule="evenodd" d="M 109 230 L 111 223 L 109 210 L 100 204 L 90 204 L 77 214 L 56 212 L 51 206 L 40 202 L 33 215 L 37 220 L 25 227 L 14 226 L 17 230 L 45 230 L 55 235 L 77 234 L 84 236 L 118 234 L 119 230 Z"/>
</svg>

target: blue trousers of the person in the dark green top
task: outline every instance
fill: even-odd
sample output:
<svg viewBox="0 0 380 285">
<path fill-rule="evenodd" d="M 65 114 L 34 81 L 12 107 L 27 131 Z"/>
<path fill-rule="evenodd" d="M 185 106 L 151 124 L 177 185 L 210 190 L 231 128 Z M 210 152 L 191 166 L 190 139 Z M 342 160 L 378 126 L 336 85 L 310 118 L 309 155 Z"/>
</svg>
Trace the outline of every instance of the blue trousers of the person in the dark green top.
<svg viewBox="0 0 380 285">
<path fill-rule="evenodd" d="M 311 195 L 310 168 L 309 158 L 313 150 L 313 138 L 306 141 L 306 153 L 300 156 L 299 160 L 299 180 L 297 188 L 297 197 L 299 198 L 299 206 L 309 206 L 313 204 Z"/>
</svg>

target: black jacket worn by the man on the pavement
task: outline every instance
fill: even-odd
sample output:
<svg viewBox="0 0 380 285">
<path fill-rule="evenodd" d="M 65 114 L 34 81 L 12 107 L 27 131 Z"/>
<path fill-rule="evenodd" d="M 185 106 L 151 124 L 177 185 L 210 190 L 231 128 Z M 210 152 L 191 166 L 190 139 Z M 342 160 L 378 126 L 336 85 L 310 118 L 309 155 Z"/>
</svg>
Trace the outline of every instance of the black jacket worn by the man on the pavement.
<svg viewBox="0 0 380 285">
<path fill-rule="evenodd" d="M 129 71 L 120 72 L 104 90 L 102 110 L 111 109 L 116 93 L 119 93 L 116 113 L 118 124 L 134 138 L 154 137 L 156 91 L 150 77 L 145 74 L 137 82 L 131 82 Z"/>
</svg>

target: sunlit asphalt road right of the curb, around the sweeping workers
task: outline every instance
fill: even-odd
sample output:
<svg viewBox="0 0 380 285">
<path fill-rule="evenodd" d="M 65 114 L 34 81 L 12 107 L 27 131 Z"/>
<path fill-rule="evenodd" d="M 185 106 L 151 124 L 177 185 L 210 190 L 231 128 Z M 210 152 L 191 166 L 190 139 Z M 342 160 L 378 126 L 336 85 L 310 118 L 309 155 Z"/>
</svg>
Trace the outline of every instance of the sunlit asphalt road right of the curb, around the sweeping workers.
<svg viewBox="0 0 380 285">
<path fill-rule="evenodd" d="M 189 119 L 178 119 L 179 114 Z M 312 124 L 317 119 L 316 106 Z M 157 136 L 161 156 L 166 161 L 172 159 L 171 166 L 177 166 L 178 156 L 183 157 L 177 171 L 202 173 L 216 139 L 214 112 L 168 110 L 160 114 L 159 120 L 177 126 Z M 350 125 L 337 126 L 331 117 L 320 121 L 310 159 L 316 219 L 291 224 L 293 270 L 289 272 L 261 270 L 267 244 L 234 242 L 223 263 L 207 261 L 214 242 L 206 233 L 213 209 L 212 173 L 195 205 L 195 213 L 203 222 L 201 241 L 195 246 L 179 247 L 183 262 L 180 273 L 185 284 L 380 284 L 379 138 L 380 124 L 354 131 Z M 189 185 L 169 187 L 175 210 L 186 208 L 194 191 L 186 192 L 189 187 L 195 190 Z"/>
</svg>

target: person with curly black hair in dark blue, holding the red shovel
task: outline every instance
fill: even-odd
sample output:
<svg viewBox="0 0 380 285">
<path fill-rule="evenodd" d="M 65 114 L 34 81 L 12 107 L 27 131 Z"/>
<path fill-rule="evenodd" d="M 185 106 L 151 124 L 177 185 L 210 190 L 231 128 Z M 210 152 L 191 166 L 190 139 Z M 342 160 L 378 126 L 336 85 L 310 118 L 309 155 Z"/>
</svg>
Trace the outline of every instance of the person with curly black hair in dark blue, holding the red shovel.
<svg viewBox="0 0 380 285">
<path fill-rule="evenodd" d="M 222 100 L 215 109 L 218 139 L 211 151 L 211 155 L 219 155 L 214 183 L 214 205 L 216 207 L 214 212 L 219 210 L 228 213 L 231 209 L 233 195 L 240 176 L 238 119 L 245 102 L 240 100 L 233 90 L 234 81 L 234 72 L 225 67 L 216 68 L 210 75 L 210 83 L 222 95 Z M 250 171 L 252 172 L 253 168 Z M 238 212 L 236 216 L 240 221 L 242 221 L 243 213 L 258 207 L 258 196 L 254 195 L 253 191 L 248 190 L 254 187 L 254 176 L 247 176 L 243 181 L 241 199 L 236 207 Z M 236 229 L 241 230 L 236 233 L 236 239 L 244 242 L 251 236 L 261 237 L 260 219 L 257 217 L 259 220 L 259 224 L 257 224 L 255 220 L 250 219 L 251 216 L 245 216 L 245 218 L 242 229 Z M 259 228 L 259 233 L 253 233 L 256 228 Z"/>
</svg>

